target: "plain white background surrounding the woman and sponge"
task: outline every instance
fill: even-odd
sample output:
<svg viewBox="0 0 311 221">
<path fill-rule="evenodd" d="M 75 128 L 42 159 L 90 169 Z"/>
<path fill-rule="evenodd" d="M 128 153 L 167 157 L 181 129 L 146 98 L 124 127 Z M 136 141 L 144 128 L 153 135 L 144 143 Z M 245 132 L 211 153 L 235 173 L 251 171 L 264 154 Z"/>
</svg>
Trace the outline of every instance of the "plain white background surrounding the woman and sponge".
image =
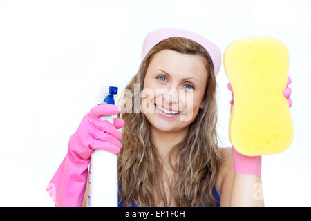
<svg viewBox="0 0 311 221">
<path fill-rule="evenodd" d="M 294 140 L 263 156 L 265 206 L 311 206 L 311 1 L 0 1 L 0 206 L 54 206 L 45 189 L 100 87 L 122 90 L 147 32 L 180 28 L 220 47 L 275 37 L 290 52 Z M 229 80 L 218 83 L 228 135 Z"/>
</svg>

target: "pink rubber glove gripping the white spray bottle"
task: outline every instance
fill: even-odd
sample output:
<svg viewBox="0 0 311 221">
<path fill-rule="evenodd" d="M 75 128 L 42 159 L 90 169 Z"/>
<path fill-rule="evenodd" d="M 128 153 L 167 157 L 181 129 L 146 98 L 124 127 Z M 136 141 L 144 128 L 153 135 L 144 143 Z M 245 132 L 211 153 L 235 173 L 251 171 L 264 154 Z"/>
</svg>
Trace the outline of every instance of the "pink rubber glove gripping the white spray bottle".
<svg viewBox="0 0 311 221">
<path fill-rule="evenodd" d="M 57 206 L 82 206 L 93 150 L 120 152 L 122 133 L 117 129 L 124 125 L 123 119 L 115 118 L 113 124 L 100 119 L 117 113 L 120 113 L 118 106 L 97 105 L 83 117 L 77 131 L 70 136 L 67 154 L 46 188 Z"/>
</svg>

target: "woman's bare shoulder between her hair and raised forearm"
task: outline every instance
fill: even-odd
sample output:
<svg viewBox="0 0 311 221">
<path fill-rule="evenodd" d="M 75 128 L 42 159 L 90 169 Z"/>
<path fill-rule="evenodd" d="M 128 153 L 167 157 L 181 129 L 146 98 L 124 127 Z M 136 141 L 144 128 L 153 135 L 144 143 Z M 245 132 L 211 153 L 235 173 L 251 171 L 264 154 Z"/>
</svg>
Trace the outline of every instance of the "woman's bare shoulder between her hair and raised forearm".
<svg viewBox="0 0 311 221">
<path fill-rule="evenodd" d="M 232 157 L 232 148 L 225 147 L 220 148 L 220 153 L 223 156 L 223 160 L 221 161 L 220 171 L 216 178 L 215 188 L 216 191 L 220 194 L 221 187 L 223 186 L 223 180 L 225 179 L 225 175 L 228 173 L 232 173 L 232 164 L 233 164 L 233 157 Z"/>
</svg>

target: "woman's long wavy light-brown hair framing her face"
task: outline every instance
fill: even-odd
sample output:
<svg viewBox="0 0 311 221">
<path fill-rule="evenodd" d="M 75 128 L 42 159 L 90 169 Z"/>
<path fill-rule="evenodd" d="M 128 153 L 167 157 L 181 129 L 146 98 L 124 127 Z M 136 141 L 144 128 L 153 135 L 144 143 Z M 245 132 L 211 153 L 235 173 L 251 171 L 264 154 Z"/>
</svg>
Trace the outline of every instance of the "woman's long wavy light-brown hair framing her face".
<svg viewBox="0 0 311 221">
<path fill-rule="evenodd" d="M 189 125 L 184 140 L 174 146 L 169 153 L 169 163 L 174 172 L 173 181 L 169 184 L 170 200 L 167 200 L 164 193 L 164 170 L 151 139 L 151 124 L 144 113 L 134 110 L 134 101 L 140 100 L 144 77 L 151 59 L 164 49 L 203 56 L 208 77 L 203 98 L 204 108 L 198 111 L 196 119 Z M 134 91 L 134 84 L 139 84 L 139 92 Z M 122 108 L 118 117 L 125 122 L 122 128 L 122 149 L 117 154 L 119 195 L 120 202 L 122 200 L 124 206 L 131 206 L 132 203 L 136 206 L 157 206 L 158 198 L 162 200 L 164 206 L 169 206 L 172 198 L 176 206 L 180 207 L 216 205 L 218 201 L 214 198 L 213 187 L 223 159 L 216 133 L 218 124 L 216 86 L 211 57 L 205 48 L 195 41 L 171 37 L 161 41 L 149 51 L 138 73 L 126 86 L 126 90 L 131 91 L 131 96 L 124 95 L 117 102 Z M 130 105 L 131 113 L 124 110 L 124 106 L 127 105 Z M 172 156 L 176 160 L 174 165 L 171 163 Z"/>
</svg>

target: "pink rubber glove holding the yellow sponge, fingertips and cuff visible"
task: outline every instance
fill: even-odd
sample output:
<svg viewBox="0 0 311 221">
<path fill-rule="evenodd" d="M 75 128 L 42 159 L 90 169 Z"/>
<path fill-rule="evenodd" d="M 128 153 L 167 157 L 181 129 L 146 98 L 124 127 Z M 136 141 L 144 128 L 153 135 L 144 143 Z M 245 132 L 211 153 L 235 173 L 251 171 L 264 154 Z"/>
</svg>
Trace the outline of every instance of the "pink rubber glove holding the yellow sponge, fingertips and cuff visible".
<svg viewBox="0 0 311 221">
<path fill-rule="evenodd" d="M 292 88 L 288 88 L 288 84 L 292 83 L 292 79 L 288 77 L 288 83 L 286 88 L 283 90 L 283 96 L 288 99 L 288 106 L 292 106 L 292 99 L 290 99 L 290 94 L 292 93 Z M 231 90 L 232 100 L 230 101 L 232 111 L 232 105 L 234 104 L 234 95 L 232 91 L 232 86 L 230 83 L 227 84 L 227 88 Z M 256 175 L 261 177 L 261 156 L 249 157 L 238 153 L 234 146 L 232 146 L 232 157 L 233 157 L 233 169 L 235 173 L 244 173 L 249 175 Z"/>
</svg>

